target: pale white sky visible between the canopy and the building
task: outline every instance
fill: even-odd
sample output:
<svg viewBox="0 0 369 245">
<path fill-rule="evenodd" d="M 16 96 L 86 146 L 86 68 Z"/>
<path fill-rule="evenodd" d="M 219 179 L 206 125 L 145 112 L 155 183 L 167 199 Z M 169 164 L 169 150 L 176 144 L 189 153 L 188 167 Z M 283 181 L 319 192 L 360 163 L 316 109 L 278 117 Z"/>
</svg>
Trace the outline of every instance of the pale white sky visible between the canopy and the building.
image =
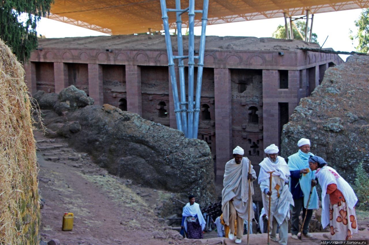
<svg viewBox="0 0 369 245">
<path fill-rule="evenodd" d="M 359 18 L 361 9 L 321 13 L 314 15 L 313 32 L 318 35 L 318 42 L 323 48 L 331 47 L 336 51 L 355 51 L 355 43 L 349 39 L 351 29 L 357 32 L 354 21 Z M 271 37 L 278 25 L 284 25 L 284 18 L 243 21 L 229 24 L 206 26 L 207 36 L 255 36 L 257 38 Z M 310 26 L 310 25 L 309 25 Z M 105 33 L 65 24 L 47 18 L 42 18 L 37 26 L 38 34 L 46 38 L 63 38 L 73 36 L 101 36 Z M 201 27 L 195 28 L 195 35 L 200 35 Z M 340 55 L 346 60 L 347 55 Z"/>
</svg>

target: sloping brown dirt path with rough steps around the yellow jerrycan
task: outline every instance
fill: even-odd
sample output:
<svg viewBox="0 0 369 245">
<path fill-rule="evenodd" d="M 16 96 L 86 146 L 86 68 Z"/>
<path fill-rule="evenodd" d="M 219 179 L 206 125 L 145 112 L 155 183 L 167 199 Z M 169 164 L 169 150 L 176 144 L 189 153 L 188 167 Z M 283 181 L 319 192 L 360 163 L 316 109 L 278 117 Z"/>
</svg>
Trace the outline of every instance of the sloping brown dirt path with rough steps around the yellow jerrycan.
<svg viewBox="0 0 369 245">
<path fill-rule="evenodd" d="M 39 132 L 35 132 L 35 139 L 41 149 L 38 159 L 39 189 L 44 200 L 40 228 L 43 241 L 56 238 L 65 245 L 177 243 L 178 232 L 159 223 L 153 208 L 123 180 L 90 164 L 86 154 L 74 152 L 58 139 L 46 139 Z M 150 199 L 155 200 L 155 196 Z M 61 230 L 65 212 L 74 214 L 72 231 Z"/>
</svg>

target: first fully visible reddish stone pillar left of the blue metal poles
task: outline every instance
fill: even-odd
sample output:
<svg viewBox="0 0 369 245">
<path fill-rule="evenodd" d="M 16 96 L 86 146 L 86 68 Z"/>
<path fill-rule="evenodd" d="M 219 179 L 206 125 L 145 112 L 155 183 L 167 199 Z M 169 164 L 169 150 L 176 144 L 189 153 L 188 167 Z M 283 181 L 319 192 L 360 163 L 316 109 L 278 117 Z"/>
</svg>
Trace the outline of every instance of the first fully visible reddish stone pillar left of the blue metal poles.
<svg viewBox="0 0 369 245">
<path fill-rule="evenodd" d="M 142 116 L 141 68 L 138 65 L 126 65 L 125 80 L 127 110 Z"/>
</svg>

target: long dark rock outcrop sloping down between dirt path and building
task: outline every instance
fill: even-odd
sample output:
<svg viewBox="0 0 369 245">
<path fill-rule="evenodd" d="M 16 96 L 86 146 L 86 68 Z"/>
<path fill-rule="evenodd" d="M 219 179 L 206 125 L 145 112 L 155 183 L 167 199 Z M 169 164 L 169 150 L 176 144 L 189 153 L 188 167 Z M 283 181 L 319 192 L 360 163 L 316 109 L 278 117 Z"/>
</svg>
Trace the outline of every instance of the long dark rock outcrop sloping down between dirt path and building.
<svg viewBox="0 0 369 245">
<path fill-rule="evenodd" d="M 66 92 L 68 88 L 61 94 Z M 43 104 L 39 106 L 42 110 Z M 184 200 L 193 193 L 202 206 L 216 201 L 213 159 L 206 142 L 109 104 L 77 107 L 65 107 L 62 116 L 57 106 L 42 110 L 48 135 L 67 138 L 70 146 L 88 152 L 111 174 L 180 193 Z"/>
</svg>

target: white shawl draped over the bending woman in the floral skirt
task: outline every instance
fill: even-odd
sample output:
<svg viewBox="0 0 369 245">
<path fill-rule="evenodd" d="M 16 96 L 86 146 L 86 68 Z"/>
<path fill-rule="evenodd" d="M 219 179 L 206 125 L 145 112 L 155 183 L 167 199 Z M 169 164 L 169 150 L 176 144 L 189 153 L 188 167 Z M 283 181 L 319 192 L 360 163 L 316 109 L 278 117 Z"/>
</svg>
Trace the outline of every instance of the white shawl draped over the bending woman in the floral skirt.
<svg viewBox="0 0 369 245">
<path fill-rule="evenodd" d="M 327 194 L 327 187 L 329 184 L 336 184 L 337 189 L 342 192 L 349 209 L 353 209 L 358 202 L 358 198 L 355 195 L 352 187 L 337 173 L 334 168 L 324 166 L 317 170 L 315 177 L 318 178 L 319 184 L 322 188 L 322 227 L 323 229 L 329 224 L 329 205 L 330 199 Z"/>
</svg>

